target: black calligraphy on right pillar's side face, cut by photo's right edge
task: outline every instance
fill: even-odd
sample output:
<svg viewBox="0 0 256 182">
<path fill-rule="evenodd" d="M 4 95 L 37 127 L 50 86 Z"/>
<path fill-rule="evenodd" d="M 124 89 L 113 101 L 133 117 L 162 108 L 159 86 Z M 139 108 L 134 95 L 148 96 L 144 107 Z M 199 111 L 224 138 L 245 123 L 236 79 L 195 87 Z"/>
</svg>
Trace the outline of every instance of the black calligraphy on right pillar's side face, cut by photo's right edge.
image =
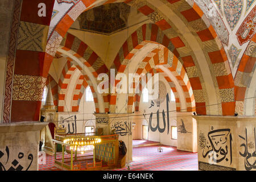
<svg viewBox="0 0 256 182">
<path fill-rule="evenodd" d="M 245 158 L 245 169 L 250 171 L 251 169 L 256 169 L 256 135 L 254 127 L 254 143 L 247 141 L 247 129 L 245 128 L 245 138 L 238 135 L 245 143 L 242 143 L 240 147 L 243 147 L 243 152 L 239 152 L 243 158 Z M 254 151 L 253 151 L 254 150 Z"/>
</svg>

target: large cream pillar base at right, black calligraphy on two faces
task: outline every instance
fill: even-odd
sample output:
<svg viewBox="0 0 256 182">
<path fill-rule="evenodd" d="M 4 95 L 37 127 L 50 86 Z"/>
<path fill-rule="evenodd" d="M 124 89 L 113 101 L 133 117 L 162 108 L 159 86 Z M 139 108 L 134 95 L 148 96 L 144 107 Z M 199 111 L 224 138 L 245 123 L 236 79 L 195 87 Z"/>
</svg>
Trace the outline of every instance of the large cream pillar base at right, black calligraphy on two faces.
<svg viewBox="0 0 256 182">
<path fill-rule="evenodd" d="M 256 117 L 193 116 L 201 170 L 247 170 L 256 166 Z"/>
</svg>

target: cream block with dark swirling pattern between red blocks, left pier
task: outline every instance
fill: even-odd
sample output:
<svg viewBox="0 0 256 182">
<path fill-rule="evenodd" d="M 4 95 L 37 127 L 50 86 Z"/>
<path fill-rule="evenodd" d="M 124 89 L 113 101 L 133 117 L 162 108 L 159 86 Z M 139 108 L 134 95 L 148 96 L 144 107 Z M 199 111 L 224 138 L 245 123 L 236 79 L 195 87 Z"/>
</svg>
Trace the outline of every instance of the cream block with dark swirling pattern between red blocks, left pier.
<svg viewBox="0 0 256 182">
<path fill-rule="evenodd" d="M 45 84 L 44 77 L 14 75 L 13 100 L 41 101 Z"/>
</svg>

